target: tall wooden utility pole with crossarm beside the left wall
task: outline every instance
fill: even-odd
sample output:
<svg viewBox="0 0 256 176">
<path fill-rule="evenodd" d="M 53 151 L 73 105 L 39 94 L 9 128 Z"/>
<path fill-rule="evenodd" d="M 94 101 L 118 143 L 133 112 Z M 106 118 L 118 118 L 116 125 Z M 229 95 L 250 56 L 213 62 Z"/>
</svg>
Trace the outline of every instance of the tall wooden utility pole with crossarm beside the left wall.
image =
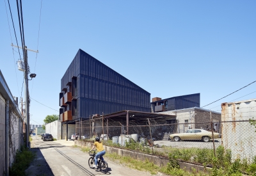
<svg viewBox="0 0 256 176">
<path fill-rule="evenodd" d="M 15 46 L 12 44 L 13 47 L 18 47 L 20 49 L 23 49 L 22 47 L 19 46 Z M 26 147 L 30 147 L 29 146 L 29 90 L 28 90 L 28 51 L 33 51 L 33 52 L 38 52 L 38 51 L 34 51 L 32 49 L 27 49 L 27 47 L 25 46 L 24 48 L 24 63 L 25 63 L 25 70 L 24 70 L 24 79 L 25 79 L 25 96 L 26 96 Z M 35 74 L 34 74 L 35 75 Z M 32 76 L 30 76 L 32 79 Z"/>
</svg>

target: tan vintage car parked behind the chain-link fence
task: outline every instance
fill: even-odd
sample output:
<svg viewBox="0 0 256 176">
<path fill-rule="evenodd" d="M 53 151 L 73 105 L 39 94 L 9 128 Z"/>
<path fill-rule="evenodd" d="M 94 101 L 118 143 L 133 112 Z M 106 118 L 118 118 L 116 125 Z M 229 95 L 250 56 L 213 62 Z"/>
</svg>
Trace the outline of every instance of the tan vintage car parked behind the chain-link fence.
<svg viewBox="0 0 256 176">
<path fill-rule="evenodd" d="M 221 138 L 221 134 L 213 132 L 214 139 Z M 189 129 L 184 133 L 170 134 L 170 139 L 173 141 L 180 140 L 202 140 L 209 142 L 212 139 L 212 132 L 204 129 Z"/>
</svg>

